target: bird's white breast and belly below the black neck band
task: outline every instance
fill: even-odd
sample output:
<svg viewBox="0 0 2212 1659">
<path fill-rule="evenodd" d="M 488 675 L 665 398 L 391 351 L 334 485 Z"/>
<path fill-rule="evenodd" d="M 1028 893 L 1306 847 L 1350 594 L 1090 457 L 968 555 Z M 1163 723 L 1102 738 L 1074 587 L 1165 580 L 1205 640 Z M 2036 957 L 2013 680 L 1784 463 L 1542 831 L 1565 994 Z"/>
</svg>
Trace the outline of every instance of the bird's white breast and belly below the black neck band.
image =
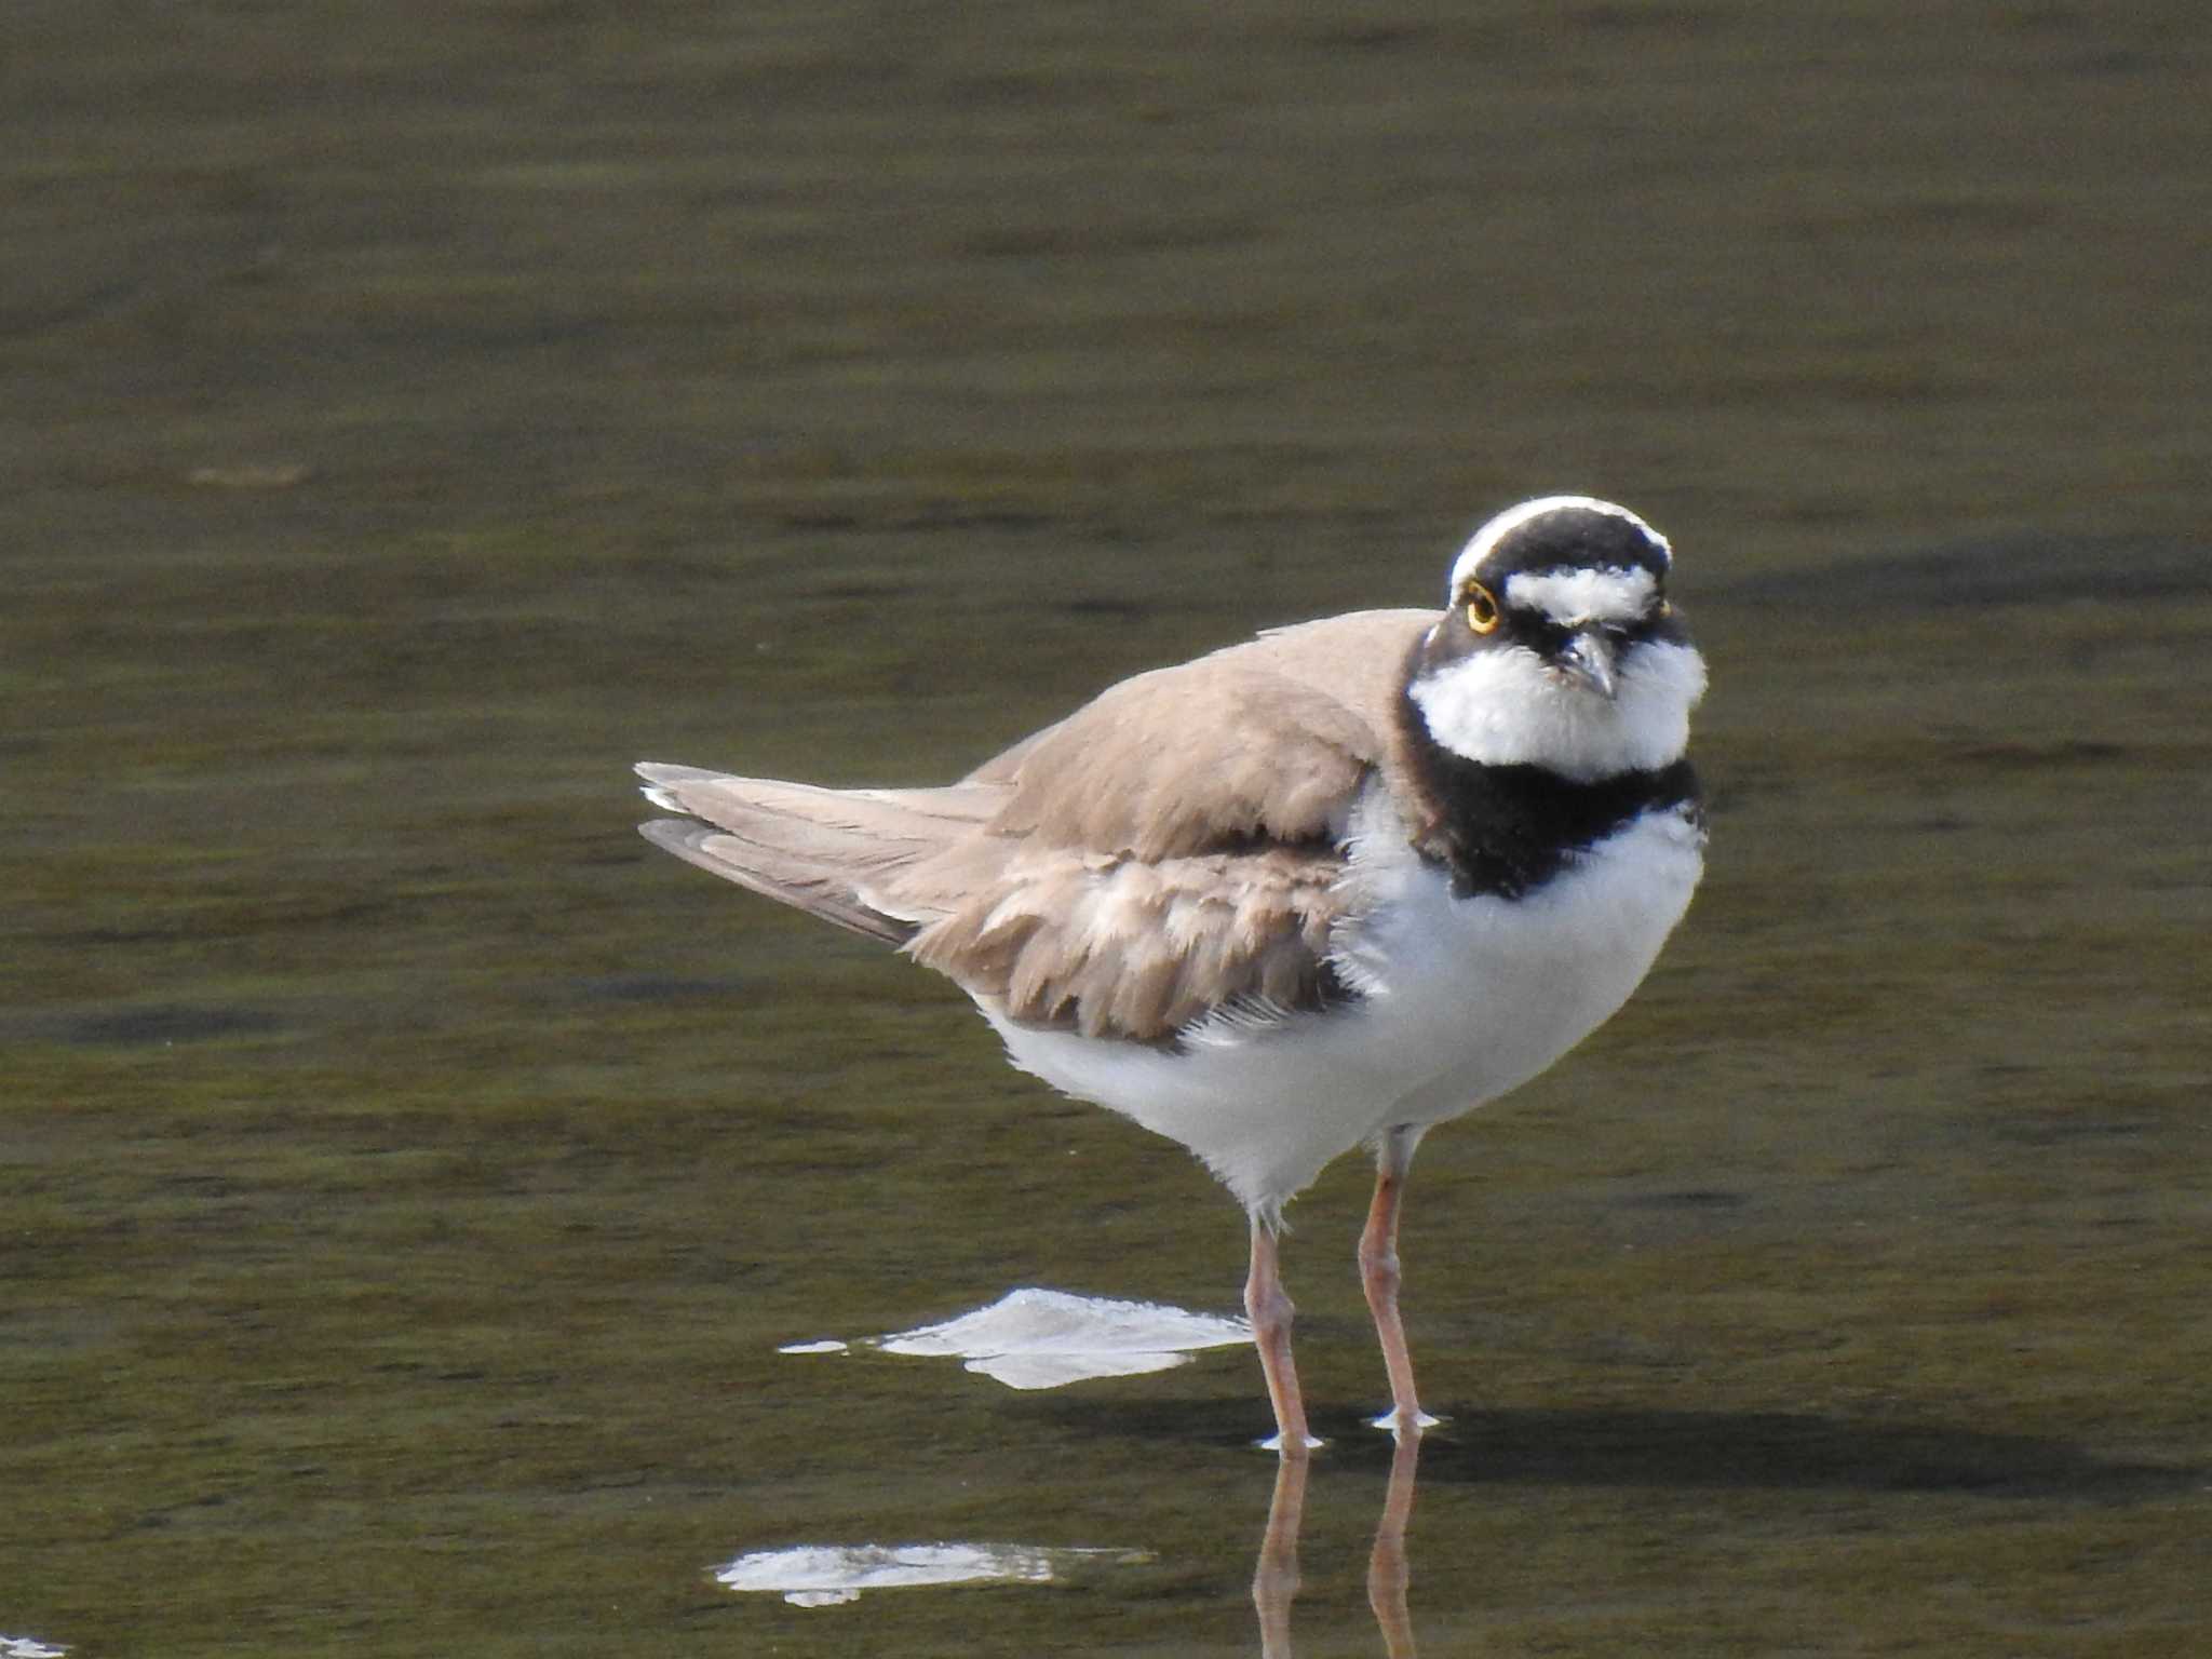
<svg viewBox="0 0 2212 1659">
<path fill-rule="evenodd" d="M 1389 816 L 1358 838 L 1358 920 L 1334 940 L 1356 1004 L 1199 1026 L 1181 1053 L 984 1015 L 1015 1066 L 1181 1141 L 1272 1214 L 1360 1141 L 1458 1117 L 1582 1042 L 1644 980 L 1703 869 L 1703 834 L 1657 812 L 1526 898 L 1453 898 Z"/>
</svg>

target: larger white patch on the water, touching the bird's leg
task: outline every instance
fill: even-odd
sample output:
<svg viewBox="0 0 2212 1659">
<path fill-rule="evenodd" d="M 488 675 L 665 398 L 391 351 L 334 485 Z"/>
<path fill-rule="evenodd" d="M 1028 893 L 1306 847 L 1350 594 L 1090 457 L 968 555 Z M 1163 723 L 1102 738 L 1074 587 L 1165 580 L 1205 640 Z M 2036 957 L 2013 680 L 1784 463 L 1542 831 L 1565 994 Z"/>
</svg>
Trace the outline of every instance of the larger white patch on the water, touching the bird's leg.
<svg viewBox="0 0 2212 1659">
<path fill-rule="evenodd" d="M 942 1325 L 878 1336 L 885 1354 L 940 1354 L 1009 1389 L 1057 1389 L 1095 1376 L 1137 1376 L 1183 1365 L 1208 1347 L 1252 1340 L 1241 1318 L 1164 1303 L 1011 1290 Z"/>
</svg>

